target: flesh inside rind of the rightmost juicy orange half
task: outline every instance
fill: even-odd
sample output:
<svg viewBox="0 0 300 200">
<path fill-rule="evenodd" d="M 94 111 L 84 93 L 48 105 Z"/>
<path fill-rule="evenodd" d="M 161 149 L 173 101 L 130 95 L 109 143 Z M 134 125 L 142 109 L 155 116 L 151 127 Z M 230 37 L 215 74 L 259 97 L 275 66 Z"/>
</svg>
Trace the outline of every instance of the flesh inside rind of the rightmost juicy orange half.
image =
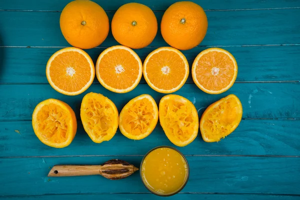
<svg viewBox="0 0 300 200">
<path fill-rule="evenodd" d="M 195 69 L 196 79 L 208 90 L 218 91 L 230 84 L 234 75 L 234 63 L 223 52 L 203 54 Z"/>
</svg>

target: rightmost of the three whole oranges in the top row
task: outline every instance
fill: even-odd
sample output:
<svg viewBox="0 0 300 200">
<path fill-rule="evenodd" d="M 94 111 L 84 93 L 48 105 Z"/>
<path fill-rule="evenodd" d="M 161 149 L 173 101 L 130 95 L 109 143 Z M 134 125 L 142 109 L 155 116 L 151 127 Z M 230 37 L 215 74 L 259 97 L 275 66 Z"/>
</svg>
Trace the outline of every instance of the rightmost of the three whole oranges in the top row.
<svg viewBox="0 0 300 200">
<path fill-rule="evenodd" d="M 198 45 L 207 30 L 203 8 L 190 1 L 170 5 L 164 12 L 160 29 L 163 39 L 171 46 L 187 50 Z"/>
</svg>

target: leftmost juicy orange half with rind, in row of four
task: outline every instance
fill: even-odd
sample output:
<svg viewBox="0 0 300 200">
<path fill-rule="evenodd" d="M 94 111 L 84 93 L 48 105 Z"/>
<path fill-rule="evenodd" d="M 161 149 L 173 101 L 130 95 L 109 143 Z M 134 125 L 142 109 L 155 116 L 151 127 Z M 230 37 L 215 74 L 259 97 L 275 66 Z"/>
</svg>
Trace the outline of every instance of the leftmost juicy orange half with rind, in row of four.
<svg viewBox="0 0 300 200">
<path fill-rule="evenodd" d="M 91 85 L 95 69 L 85 51 L 67 47 L 56 51 L 49 58 L 46 76 L 56 91 L 66 95 L 77 95 Z"/>
</svg>

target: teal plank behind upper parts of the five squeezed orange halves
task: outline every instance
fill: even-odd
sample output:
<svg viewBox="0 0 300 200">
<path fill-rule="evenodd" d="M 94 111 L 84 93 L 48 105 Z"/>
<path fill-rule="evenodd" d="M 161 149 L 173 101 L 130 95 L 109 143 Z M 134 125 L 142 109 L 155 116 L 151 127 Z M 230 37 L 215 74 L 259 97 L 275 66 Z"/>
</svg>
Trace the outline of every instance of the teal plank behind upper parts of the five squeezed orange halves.
<svg viewBox="0 0 300 200">
<path fill-rule="evenodd" d="M 193 102 L 199 115 L 212 102 L 233 93 L 239 97 L 243 105 L 244 118 L 289 118 L 300 117 L 300 104 L 297 103 L 299 84 L 299 82 L 235 83 L 226 92 L 211 95 L 201 91 L 195 84 L 188 83 L 174 93 Z M 157 103 L 165 95 L 154 91 L 147 84 L 139 84 L 134 90 L 124 94 L 111 92 L 100 84 L 92 84 L 85 92 L 76 96 L 58 93 L 49 84 L 0 84 L 0 91 L 0 120 L 31 120 L 34 107 L 47 98 L 57 98 L 68 103 L 79 119 L 82 97 L 91 91 L 110 98 L 119 111 L 130 99 L 140 94 L 150 94 Z"/>
</svg>

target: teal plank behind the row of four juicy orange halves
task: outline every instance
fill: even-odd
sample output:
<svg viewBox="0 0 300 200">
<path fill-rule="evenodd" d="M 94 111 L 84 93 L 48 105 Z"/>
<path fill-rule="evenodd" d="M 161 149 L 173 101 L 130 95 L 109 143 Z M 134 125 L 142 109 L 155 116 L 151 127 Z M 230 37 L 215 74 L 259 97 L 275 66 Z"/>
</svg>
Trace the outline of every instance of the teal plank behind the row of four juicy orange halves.
<svg viewBox="0 0 300 200">
<path fill-rule="evenodd" d="M 207 47 L 183 51 L 190 68 L 196 55 Z M 236 81 L 300 80 L 300 45 L 288 46 L 227 46 L 238 64 Z M 1 83 L 47 83 L 45 65 L 48 58 L 60 48 L 0 48 L 3 57 L 0 69 Z M 105 48 L 87 49 L 94 63 Z M 155 47 L 136 49 L 142 61 Z M 16 56 L 17 55 L 17 56 Z M 37 56 L 38 55 L 38 56 Z M 288 57 L 288 59 L 287 59 Z M 98 82 L 95 79 L 94 82 Z M 193 82 L 189 75 L 187 82 Z M 140 83 L 145 83 L 142 78 Z"/>
</svg>

